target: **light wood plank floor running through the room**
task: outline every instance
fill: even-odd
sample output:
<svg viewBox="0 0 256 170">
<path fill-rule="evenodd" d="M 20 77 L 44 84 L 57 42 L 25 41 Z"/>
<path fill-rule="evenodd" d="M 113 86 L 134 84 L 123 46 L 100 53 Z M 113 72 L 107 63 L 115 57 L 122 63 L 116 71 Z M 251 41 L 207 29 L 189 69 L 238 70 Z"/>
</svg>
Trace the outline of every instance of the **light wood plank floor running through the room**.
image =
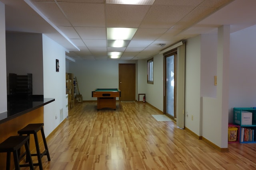
<svg viewBox="0 0 256 170">
<path fill-rule="evenodd" d="M 162 113 L 143 102 L 117 102 L 116 111 L 76 104 L 47 138 L 51 161 L 42 158 L 44 170 L 256 169 L 256 144 L 219 152 L 156 114 Z"/>
</svg>

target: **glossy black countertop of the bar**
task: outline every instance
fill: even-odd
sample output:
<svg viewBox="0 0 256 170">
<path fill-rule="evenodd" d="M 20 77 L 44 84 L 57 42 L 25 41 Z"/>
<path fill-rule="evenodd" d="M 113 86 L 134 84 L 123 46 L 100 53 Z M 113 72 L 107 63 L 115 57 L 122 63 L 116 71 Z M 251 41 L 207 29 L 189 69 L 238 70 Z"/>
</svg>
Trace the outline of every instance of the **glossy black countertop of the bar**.
<svg viewBox="0 0 256 170">
<path fill-rule="evenodd" d="M 54 98 L 44 98 L 43 95 L 33 95 L 31 98 L 8 97 L 7 111 L 0 113 L 0 123 L 14 119 L 54 101 Z"/>
</svg>

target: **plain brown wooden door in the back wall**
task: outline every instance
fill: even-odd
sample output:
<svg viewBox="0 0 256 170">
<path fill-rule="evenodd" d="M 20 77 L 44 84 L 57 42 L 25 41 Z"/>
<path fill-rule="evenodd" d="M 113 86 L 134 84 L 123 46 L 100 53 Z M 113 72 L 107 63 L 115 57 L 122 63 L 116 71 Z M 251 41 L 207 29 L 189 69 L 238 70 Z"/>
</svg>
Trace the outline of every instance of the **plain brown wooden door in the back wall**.
<svg viewBox="0 0 256 170">
<path fill-rule="evenodd" d="M 119 64 L 119 89 L 120 101 L 135 101 L 135 64 Z"/>
</svg>

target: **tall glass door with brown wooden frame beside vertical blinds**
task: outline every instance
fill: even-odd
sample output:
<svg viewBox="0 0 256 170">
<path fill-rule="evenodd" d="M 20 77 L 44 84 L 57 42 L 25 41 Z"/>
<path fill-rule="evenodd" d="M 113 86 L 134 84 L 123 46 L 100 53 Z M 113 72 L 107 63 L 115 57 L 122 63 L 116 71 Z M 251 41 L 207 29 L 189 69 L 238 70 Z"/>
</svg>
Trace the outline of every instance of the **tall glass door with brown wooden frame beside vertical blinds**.
<svg viewBox="0 0 256 170">
<path fill-rule="evenodd" d="M 164 54 L 164 114 L 176 120 L 177 50 Z"/>
</svg>

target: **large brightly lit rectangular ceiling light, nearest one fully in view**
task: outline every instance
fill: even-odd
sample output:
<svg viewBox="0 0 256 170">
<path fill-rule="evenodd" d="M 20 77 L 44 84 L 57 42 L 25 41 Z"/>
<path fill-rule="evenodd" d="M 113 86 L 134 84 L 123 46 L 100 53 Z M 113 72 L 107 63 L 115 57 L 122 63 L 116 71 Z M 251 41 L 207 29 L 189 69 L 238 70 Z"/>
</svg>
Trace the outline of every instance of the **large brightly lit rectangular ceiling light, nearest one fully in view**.
<svg viewBox="0 0 256 170">
<path fill-rule="evenodd" d="M 137 28 L 107 28 L 108 39 L 131 40 Z"/>
</svg>

